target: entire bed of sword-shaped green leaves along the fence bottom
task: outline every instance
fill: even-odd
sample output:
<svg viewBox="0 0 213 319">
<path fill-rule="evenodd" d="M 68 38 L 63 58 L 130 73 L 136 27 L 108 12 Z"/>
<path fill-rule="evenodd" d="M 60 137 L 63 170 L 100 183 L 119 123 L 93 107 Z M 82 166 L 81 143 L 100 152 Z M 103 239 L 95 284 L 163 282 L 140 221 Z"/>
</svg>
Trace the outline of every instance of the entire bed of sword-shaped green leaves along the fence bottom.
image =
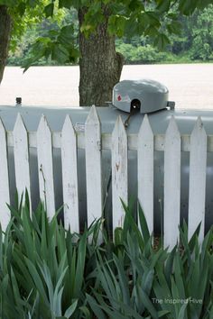
<svg viewBox="0 0 213 319">
<path fill-rule="evenodd" d="M 123 203 L 124 226 L 112 239 L 101 221 L 66 231 L 58 213 L 49 220 L 42 204 L 31 213 L 25 198 L 0 230 L 0 317 L 213 317 L 212 228 L 200 245 L 199 227 L 188 241 L 183 223 L 180 246 L 168 251 L 162 240 L 153 245 L 140 205 L 136 223 L 134 205 Z"/>
</svg>

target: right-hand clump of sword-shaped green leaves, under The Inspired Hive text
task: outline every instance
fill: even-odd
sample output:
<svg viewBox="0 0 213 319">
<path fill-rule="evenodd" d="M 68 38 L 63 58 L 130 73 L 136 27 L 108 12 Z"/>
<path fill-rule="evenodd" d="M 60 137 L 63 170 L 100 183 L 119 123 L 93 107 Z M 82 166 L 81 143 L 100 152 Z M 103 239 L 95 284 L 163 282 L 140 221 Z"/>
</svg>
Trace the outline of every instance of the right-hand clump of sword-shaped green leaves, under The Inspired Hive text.
<svg viewBox="0 0 213 319">
<path fill-rule="evenodd" d="M 123 203 L 124 205 L 124 203 Z M 99 319 L 213 317 L 213 228 L 201 246 L 199 228 L 188 242 L 186 223 L 181 244 L 172 251 L 153 247 L 144 213 L 139 228 L 124 205 L 125 224 L 116 229 L 111 259 L 97 257 L 97 289 L 87 295 Z"/>
</svg>

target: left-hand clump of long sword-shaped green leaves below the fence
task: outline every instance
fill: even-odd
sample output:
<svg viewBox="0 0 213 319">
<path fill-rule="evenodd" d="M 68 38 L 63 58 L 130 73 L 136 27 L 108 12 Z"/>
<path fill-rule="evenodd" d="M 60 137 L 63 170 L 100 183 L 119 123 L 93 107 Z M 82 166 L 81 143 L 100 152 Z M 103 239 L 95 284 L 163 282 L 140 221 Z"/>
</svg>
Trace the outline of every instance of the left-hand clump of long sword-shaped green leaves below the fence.
<svg viewBox="0 0 213 319">
<path fill-rule="evenodd" d="M 10 207 L 12 219 L 0 230 L 0 317 L 82 318 L 93 269 L 98 223 L 81 235 L 65 231 L 44 206 L 30 214 L 26 204 Z"/>
</svg>

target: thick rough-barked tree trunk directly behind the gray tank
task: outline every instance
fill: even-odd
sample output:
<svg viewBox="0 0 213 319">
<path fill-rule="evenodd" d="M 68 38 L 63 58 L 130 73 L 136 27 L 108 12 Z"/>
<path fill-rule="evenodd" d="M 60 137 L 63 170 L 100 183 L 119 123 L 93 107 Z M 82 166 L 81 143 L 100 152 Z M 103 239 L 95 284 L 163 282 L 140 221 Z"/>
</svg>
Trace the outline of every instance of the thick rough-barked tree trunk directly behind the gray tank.
<svg viewBox="0 0 213 319">
<path fill-rule="evenodd" d="M 86 10 L 79 10 L 79 28 Z M 116 53 L 115 37 L 107 33 L 106 21 L 88 38 L 79 31 L 79 105 L 106 106 L 112 101 L 113 87 L 119 82 L 124 58 Z"/>
</svg>

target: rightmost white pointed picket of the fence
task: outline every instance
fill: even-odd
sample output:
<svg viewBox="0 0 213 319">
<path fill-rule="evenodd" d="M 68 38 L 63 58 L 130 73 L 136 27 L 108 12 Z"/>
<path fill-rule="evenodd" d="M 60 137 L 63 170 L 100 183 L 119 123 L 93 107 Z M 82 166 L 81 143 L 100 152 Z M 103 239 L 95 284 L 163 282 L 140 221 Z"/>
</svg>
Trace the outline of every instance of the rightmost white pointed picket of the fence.
<svg viewBox="0 0 213 319">
<path fill-rule="evenodd" d="M 189 239 L 199 223 L 204 237 L 207 168 L 207 134 L 199 117 L 190 136 Z"/>
</svg>

